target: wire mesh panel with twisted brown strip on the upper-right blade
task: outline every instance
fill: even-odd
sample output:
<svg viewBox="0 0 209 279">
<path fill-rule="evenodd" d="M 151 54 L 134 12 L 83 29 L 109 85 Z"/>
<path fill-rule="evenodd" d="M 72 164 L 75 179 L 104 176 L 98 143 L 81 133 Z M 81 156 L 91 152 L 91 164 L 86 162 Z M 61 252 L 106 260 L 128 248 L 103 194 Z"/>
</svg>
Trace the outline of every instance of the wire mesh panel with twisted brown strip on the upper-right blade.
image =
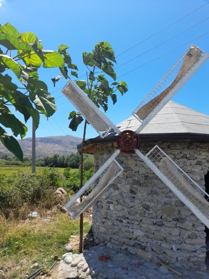
<svg viewBox="0 0 209 279">
<path fill-rule="evenodd" d="M 203 51 L 192 45 L 132 114 L 142 122 L 163 102 L 164 98 L 168 96 L 169 93 L 170 95 L 172 94 L 172 90 L 182 81 L 189 71 L 193 69 L 203 54 L 205 54 Z"/>
</svg>

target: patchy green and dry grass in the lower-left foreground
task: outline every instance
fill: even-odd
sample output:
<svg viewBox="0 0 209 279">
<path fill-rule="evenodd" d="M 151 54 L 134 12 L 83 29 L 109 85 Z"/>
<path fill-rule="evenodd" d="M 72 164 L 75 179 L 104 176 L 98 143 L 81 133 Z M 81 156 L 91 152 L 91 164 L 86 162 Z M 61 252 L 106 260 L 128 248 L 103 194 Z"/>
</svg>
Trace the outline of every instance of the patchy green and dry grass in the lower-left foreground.
<svg viewBox="0 0 209 279">
<path fill-rule="evenodd" d="M 40 268 L 48 269 L 54 263 L 54 255 L 59 258 L 65 253 L 70 235 L 79 231 L 79 219 L 72 221 L 68 214 L 51 218 L 49 222 L 36 219 L 20 226 L 0 220 L 0 267 L 8 278 L 32 274 L 34 270 L 29 268 L 36 262 Z M 84 222 L 84 233 L 89 232 L 90 227 Z"/>
</svg>

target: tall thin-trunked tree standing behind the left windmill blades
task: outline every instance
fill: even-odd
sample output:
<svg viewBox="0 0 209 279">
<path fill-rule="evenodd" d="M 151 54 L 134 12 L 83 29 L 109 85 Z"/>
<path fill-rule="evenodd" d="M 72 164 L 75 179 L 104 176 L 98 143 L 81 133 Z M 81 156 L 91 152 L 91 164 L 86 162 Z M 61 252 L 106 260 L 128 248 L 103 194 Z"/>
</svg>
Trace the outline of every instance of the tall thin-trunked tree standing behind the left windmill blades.
<svg viewBox="0 0 209 279">
<path fill-rule="evenodd" d="M 77 80 L 76 84 L 86 93 L 86 95 L 98 106 L 101 106 L 106 112 L 108 109 L 107 103 L 109 97 L 113 104 L 117 102 L 116 91 L 119 91 L 123 96 L 128 91 L 127 84 L 124 81 L 115 82 L 116 73 L 114 71 L 115 54 L 108 42 L 98 42 L 92 52 L 83 52 L 83 62 L 86 65 L 89 73 L 86 72 L 85 80 Z M 114 82 L 108 82 L 105 75 L 110 76 Z M 84 120 L 80 112 L 72 111 L 69 115 L 71 120 L 69 128 L 76 131 L 78 125 Z M 81 144 L 81 181 L 80 188 L 83 186 L 83 145 L 85 141 L 86 124 L 84 124 L 83 140 Z M 79 251 L 82 252 L 83 238 L 83 214 L 80 215 L 80 245 Z"/>
</svg>

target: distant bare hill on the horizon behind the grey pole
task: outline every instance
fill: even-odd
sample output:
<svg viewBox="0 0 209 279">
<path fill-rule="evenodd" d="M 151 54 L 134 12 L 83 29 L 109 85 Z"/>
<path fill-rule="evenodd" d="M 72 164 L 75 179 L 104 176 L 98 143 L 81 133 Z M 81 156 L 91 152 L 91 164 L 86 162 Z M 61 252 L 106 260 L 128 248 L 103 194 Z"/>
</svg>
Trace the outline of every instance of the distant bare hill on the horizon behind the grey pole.
<svg viewBox="0 0 209 279">
<path fill-rule="evenodd" d="M 74 136 L 51 136 L 36 138 L 36 157 L 51 156 L 54 153 L 67 156 L 77 152 L 76 145 L 82 141 Z M 24 156 L 31 157 L 32 138 L 18 139 Z M 0 142 L 0 153 L 14 156 Z"/>
</svg>

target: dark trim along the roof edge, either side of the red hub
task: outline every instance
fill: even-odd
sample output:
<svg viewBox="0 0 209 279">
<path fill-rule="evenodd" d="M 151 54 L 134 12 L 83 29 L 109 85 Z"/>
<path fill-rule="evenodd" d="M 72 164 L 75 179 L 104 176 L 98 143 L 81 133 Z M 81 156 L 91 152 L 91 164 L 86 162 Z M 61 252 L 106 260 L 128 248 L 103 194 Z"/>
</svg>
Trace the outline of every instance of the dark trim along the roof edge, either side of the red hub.
<svg viewBox="0 0 209 279">
<path fill-rule="evenodd" d="M 197 133 L 164 133 L 164 134 L 141 134 L 142 141 L 194 141 L 194 142 L 209 142 L 209 134 Z M 100 136 L 87 139 L 84 142 L 84 148 L 92 144 L 103 144 L 116 142 L 117 136 L 107 136 L 102 139 Z M 81 143 L 77 144 L 78 152 L 81 151 Z"/>
</svg>

